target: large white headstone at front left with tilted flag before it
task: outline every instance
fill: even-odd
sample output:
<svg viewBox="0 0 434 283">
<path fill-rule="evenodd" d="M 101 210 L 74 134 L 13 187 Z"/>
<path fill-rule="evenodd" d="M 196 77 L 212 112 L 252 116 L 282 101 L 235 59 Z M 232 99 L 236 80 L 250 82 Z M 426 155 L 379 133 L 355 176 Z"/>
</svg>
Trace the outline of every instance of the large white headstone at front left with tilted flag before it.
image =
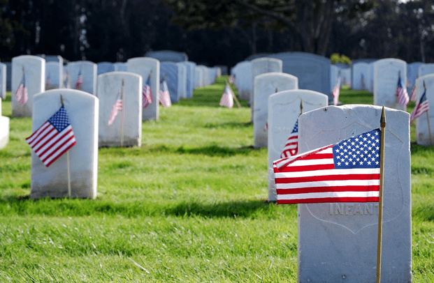
<svg viewBox="0 0 434 283">
<path fill-rule="evenodd" d="M 96 198 L 98 180 L 98 98 L 84 91 L 52 89 L 34 96 L 32 132 L 64 107 L 74 132 L 76 144 L 69 150 L 71 196 Z M 66 153 L 45 167 L 41 159 L 31 153 L 31 199 L 41 197 L 68 197 Z"/>
</svg>

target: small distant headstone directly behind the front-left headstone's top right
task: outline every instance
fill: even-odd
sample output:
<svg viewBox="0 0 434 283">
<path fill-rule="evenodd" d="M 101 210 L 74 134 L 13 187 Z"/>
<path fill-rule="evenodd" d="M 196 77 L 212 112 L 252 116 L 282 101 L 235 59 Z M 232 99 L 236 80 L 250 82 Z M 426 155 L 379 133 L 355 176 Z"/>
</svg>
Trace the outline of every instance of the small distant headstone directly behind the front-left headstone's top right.
<svg viewBox="0 0 434 283">
<path fill-rule="evenodd" d="M 96 63 L 90 61 L 75 61 L 68 63 L 69 77 L 71 79 L 71 87 L 75 89 L 78 73 L 82 72 L 81 91 L 86 91 L 90 94 L 96 93 Z"/>
</svg>

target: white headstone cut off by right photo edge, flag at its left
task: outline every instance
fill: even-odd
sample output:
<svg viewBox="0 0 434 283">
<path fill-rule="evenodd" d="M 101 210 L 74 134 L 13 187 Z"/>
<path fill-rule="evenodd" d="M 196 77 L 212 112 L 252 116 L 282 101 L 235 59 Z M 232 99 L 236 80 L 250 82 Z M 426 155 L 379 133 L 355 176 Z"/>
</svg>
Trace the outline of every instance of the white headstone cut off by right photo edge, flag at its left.
<svg viewBox="0 0 434 283">
<path fill-rule="evenodd" d="M 426 99 L 431 102 L 434 101 L 434 74 L 424 75 L 416 79 L 417 84 L 417 100 L 421 99 L 424 94 L 424 82 L 426 86 Z M 416 143 L 423 146 L 434 146 L 434 111 L 429 109 L 428 112 L 422 114 L 419 118 L 413 121 L 416 124 Z M 430 123 L 428 124 L 428 115 Z M 431 129 L 428 128 L 431 126 Z M 430 137 L 431 130 L 431 137 Z"/>
</svg>

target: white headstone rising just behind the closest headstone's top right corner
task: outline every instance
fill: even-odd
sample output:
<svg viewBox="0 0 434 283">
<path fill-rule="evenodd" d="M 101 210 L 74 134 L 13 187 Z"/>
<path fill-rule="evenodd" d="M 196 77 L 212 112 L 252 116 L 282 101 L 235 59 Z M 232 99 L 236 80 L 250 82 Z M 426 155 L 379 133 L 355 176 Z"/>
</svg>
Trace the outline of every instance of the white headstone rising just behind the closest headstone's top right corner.
<svg viewBox="0 0 434 283">
<path fill-rule="evenodd" d="M 407 105 L 398 103 L 396 89 L 398 87 L 398 74 L 401 84 L 406 87 L 407 63 L 400 59 L 382 59 L 374 63 L 374 105 L 393 109 L 407 109 Z"/>
</svg>

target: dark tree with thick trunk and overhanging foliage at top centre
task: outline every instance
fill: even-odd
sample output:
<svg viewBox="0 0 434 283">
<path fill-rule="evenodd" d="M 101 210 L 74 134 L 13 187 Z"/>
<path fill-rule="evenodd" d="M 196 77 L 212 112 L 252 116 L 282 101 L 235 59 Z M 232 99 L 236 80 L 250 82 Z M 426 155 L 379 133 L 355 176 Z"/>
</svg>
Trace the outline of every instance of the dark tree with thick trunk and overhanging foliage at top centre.
<svg viewBox="0 0 434 283">
<path fill-rule="evenodd" d="M 372 1 L 361 0 L 161 0 L 176 14 L 182 29 L 219 30 L 257 26 L 291 32 L 295 49 L 326 55 L 333 20 L 355 17 L 370 10 Z"/>
</svg>

